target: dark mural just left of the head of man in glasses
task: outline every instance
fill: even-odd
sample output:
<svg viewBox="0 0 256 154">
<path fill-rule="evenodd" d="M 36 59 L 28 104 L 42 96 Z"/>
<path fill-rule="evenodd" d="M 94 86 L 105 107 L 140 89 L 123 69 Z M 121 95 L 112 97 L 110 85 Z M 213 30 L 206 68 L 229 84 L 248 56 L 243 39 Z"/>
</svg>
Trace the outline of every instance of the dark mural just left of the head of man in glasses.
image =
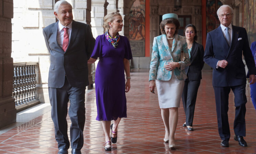
<svg viewBox="0 0 256 154">
<path fill-rule="evenodd" d="M 222 5 L 219 0 L 207 0 L 206 3 L 206 32 L 216 29 L 220 25 L 217 10 Z"/>
</svg>

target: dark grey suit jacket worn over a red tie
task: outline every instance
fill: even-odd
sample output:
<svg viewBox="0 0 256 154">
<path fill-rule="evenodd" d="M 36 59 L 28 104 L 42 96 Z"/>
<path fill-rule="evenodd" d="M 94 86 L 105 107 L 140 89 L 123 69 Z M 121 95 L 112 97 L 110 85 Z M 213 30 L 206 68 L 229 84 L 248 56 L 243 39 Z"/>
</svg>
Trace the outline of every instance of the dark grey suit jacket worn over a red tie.
<svg viewBox="0 0 256 154">
<path fill-rule="evenodd" d="M 57 25 L 58 22 L 43 29 L 45 43 L 51 55 L 48 87 L 63 87 L 65 75 L 72 87 L 88 86 L 87 60 L 90 58 L 95 44 L 91 27 L 73 20 L 70 41 L 66 52 L 64 52 L 57 42 Z"/>
</svg>

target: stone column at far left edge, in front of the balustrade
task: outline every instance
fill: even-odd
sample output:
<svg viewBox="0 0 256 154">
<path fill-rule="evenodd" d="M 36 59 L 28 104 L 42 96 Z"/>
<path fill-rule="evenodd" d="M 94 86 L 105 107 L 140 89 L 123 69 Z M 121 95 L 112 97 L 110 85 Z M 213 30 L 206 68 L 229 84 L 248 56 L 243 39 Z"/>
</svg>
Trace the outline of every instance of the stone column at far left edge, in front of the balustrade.
<svg viewBox="0 0 256 154">
<path fill-rule="evenodd" d="M 16 108 L 12 98 L 13 0 L 0 0 L 0 10 L 0 128 L 2 128 L 16 122 Z"/>
</svg>

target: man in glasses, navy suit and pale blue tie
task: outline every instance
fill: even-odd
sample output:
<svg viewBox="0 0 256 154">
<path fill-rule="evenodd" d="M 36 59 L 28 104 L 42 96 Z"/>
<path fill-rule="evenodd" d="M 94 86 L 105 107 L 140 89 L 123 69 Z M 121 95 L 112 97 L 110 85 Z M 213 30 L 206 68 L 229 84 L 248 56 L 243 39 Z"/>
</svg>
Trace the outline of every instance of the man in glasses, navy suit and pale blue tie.
<svg viewBox="0 0 256 154">
<path fill-rule="evenodd" d="M 221 25 L 207 34 L 204 62 L 213 68 L 212 85 L 215 93 L 218 128 L 221 146 L 229 146 L 230 129 L 227 111 L 229 110 L 229 93 L 235 95 L 234 139 L 241 146 L 247 146 L 245 136 L 245 95 L 246 74 L 242 55 L 249 69 L 249 82 L 256 81 L 256 68 L 249 47 L 245 28 L 231 24 L 233 9 L 222 5 L 217 15 Z"/>
</svg>

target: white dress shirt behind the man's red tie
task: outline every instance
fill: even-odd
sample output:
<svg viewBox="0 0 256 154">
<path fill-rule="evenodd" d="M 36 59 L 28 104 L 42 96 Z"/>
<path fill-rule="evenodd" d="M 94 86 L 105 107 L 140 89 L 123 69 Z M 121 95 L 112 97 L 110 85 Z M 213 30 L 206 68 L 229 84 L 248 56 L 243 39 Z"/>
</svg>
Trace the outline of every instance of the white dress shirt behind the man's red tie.
<svg viewBox="0 0 256 154">
<path fill-rule="evenodd" d="M 68 27 L 68 43 L 70 42 L 70 35 L 72 30 L 73 21 L 66 27 Z M 64 30 L 65 26 L 63 26 L 60 22 L 58 23 L 58 31 L 57 31 L 57 42 L 59 46 L 62 48 L 63 39 L 64 39 Z"/>
</svg>

